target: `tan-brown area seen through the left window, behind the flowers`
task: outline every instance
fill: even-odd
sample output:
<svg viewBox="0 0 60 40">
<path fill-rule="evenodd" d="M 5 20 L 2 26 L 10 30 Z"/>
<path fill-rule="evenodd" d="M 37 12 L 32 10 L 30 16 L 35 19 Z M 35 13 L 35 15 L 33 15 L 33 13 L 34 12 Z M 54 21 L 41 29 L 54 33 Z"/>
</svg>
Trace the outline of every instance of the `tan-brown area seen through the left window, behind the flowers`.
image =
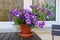
<svg viewBox="0 0 60 40">
<path fill-rule="evenodd" d="M 8 21 L 12 9 L 22 9 L 23 0 L 0 0 L 0 21 Z"/>
</svg>

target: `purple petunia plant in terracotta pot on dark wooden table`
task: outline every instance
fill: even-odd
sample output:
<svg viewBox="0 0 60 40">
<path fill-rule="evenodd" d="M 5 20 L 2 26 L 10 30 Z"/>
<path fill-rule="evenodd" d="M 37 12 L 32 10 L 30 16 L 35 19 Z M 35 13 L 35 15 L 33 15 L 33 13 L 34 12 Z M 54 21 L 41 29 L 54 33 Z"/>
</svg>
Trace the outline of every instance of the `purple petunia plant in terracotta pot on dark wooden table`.
<svg viewBox="0 0 60 40">
<path fill-rule="evenodd" d="M 45 25 L 44 21 L 51 16 L 50 10 L 46 10 L 46 8 L 42 8 L 38 5 L 31 5 L 30 8 L 32 8 L 32 11 L 29 9 L 14 9 L 9 15 L 9 19 L 13 19 L 16 25 L 20 25 L 21 33 L 24 34 L 31 33 L 31 28 L 35 25 L 43 28 Z M 38 23 L 38 21 L 41 22 Z"/>
</svg>

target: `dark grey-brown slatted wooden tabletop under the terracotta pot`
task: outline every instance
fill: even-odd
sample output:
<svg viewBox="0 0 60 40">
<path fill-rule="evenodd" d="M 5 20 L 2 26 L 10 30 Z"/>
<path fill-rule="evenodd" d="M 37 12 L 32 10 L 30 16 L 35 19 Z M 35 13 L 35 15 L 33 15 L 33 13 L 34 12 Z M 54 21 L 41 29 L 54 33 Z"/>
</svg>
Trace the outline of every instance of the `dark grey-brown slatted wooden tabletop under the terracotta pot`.
<svg viewBox="0 0 60 40">
<path fill-rule="evenodd" d="M 0 40 L 21 40 L 21 37 L 18 33 L 0 33 Z M 41 40 L 36 33 L 33 32 L 33 36 L 30 38 L 23 38 L 23 40 Z"/>
</svg>

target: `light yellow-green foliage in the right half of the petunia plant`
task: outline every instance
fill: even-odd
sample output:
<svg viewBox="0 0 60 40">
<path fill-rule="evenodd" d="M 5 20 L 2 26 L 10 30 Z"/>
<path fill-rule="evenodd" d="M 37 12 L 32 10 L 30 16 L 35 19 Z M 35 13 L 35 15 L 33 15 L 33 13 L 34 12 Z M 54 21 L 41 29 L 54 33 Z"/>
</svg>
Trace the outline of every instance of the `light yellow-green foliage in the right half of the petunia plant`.
<svg viewBox="0 0 60 40">
<path fill-rule="evenodd" d="M 36 6 L 38 6 L 38 5 L 36 5 Z M 46 20 L 46 18 L 45 18 L 46 14 L 44 14 L 41 9 L 40 10 L 37 10 L 36 9 L 36 6 L 32 9 L 32 13 L 35 13 L 35 12 L 38 12 L 39 13 L 39 15 L 37 17 L 37 19 L 39 21 Z M 42 6 L 44 8 L 44 5 L 42 5 Z"/>
</svg>

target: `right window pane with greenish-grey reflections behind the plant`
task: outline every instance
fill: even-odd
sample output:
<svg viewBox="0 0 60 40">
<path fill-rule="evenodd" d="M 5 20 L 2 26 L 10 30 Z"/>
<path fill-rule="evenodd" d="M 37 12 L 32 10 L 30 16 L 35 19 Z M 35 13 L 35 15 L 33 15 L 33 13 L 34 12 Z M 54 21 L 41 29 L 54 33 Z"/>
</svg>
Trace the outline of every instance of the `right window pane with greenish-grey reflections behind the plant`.
<svg viewBox="0 0 60 40">
<path fill-rule="evenodd" d="M 46 21 L 55 21 L 56 20 L 56 0 L 32 0 L 32 4 L 40 5 L 42 8 L 46 8 L 51 11 L 51 17 L 46 18 Z"/>
</svg>

